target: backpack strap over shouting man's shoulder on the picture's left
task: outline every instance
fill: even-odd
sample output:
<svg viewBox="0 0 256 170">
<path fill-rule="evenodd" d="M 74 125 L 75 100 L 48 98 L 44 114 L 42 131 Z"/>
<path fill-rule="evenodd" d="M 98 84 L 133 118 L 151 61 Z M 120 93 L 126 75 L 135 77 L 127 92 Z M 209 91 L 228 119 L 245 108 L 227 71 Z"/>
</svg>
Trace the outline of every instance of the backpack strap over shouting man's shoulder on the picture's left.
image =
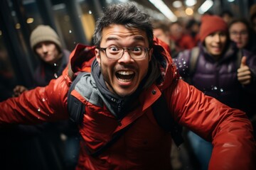
<svg viewBox="0 0 256 170">
<path fill-rule="evenodd" d="M 85 105 L 81 101 L 79 101 L 78 98 L 72 96 L 71 91 L 75 89 L 75 85 L 85 74 L 87 74 L 87 72 L 80 72 L 70 85 L 70 89 L 68 89 L 68 113 L 70 115 L 70 120 L 77 124 L 80 124 L 82 122 L 82 116 L 85 113 Z"/>
</svg>

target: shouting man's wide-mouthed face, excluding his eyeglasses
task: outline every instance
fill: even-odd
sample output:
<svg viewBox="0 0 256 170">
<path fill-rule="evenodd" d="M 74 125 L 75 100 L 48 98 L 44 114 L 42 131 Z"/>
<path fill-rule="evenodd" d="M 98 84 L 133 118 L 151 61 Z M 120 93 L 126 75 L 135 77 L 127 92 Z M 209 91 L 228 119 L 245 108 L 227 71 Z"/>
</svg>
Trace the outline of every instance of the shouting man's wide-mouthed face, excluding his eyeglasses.
<svg viewBox="0 0 256 170">
<path fill-rule="evenodd" d="M 100 47 L 149 47 L 149 41 L 143 30 L 113 24 L 102 30 Z M 152 52 L 150 49 L 145 57 L 134 60 L 125 50 L 121 58 L 114 60 L 107 58 L 104 50 L 96 49 L 97 62 L 108 89 L 121 97 L 134 93 L 148 72 Z"/>
</svg>

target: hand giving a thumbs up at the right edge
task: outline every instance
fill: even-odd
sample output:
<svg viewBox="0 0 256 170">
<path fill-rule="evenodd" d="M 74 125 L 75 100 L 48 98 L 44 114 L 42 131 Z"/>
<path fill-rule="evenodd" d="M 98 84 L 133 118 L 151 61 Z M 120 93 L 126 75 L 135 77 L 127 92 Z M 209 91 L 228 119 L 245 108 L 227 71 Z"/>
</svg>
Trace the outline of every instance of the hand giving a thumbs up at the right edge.
<svg viewBox="0 0 256 170">
<path fill-rule="evenodd" d="M 246 85 L 250 84 L 252 79 L 252 75 L 250 72 L 250 68 L 246 64 L 246 57 L 242 57 L 240 68 L 238 69 L 238 81 L 240 84 Z"/>
</svg>

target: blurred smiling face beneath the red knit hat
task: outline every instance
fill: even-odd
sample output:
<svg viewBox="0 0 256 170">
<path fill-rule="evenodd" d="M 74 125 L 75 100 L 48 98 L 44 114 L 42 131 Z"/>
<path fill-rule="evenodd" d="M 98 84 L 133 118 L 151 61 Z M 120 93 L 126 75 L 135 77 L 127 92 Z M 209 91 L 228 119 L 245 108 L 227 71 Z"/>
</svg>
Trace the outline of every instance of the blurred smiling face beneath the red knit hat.
<svg viewBox="0 0 256 170">
<path fill-rule="evenodd" d="M 205 39 L 206 50 L 216 59 L 220 57 L 227 43 L 227 35 L 221 31 L 208 35 Z"/>
</svg>

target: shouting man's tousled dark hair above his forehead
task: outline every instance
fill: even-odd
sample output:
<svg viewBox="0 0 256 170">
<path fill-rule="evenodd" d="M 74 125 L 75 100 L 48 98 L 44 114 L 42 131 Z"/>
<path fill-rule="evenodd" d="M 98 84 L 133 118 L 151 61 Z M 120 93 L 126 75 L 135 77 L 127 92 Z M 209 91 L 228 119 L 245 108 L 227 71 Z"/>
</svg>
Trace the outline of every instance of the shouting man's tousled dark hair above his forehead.
<svg viewBox="0 0 256 170">
<path fill-rule="evenodd" d="M 132 3 L 122 3 L 107 7 L 104 15 L 97 20 L 93 34 L 93 42 L 96 47 L 100 47 L 103 28 L 113 23 L 124 25 L 126 28 L 144 30 L 149 40 L 149 47 L 153 46 L 153 28 L 149 16 L 139 11 Z"/>
</svg>

